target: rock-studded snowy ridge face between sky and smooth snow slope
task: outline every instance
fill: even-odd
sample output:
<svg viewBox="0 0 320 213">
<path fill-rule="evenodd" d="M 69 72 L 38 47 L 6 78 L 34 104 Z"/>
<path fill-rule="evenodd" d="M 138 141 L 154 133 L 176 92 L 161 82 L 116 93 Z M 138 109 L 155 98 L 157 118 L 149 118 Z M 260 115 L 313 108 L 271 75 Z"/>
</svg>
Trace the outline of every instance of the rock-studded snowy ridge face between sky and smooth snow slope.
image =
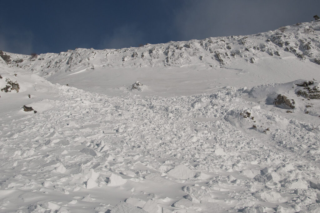
<svg viewBox="0 0 320 213">
<path fill-rule="evenodd" d="M 229 36 L 146 44 L 123 49 L 68 50 L 59 54 L 9 55 L 9 64 L 47 77 L 60 72 L 78 72 L 96 68 L 124 67 L 229 67 L 235 62 L 254 64 L 266 57 L 297 57 L 297 60 L 320 64 L 320 22 L 297 23 L 277 30 L 249 36 Z M 69 73 L 70 74 L 70 73 Z"/>
</svg>

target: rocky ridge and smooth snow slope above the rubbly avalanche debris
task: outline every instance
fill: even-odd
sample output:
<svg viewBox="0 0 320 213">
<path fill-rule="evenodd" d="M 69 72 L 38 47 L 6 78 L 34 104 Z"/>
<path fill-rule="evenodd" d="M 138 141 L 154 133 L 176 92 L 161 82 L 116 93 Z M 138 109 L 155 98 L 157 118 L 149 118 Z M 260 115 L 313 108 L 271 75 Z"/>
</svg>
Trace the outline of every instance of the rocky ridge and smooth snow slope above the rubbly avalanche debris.
<svg viewBox="0 0 320 213">
<path fill-rule="evenodd" d="M 320 22 L 312 21 L 248 36 L 36 56 L 4 54 L 10 56 L 9 66 L 92 92 L 122 95 L 124 87 L 140 81 L 148 86 L 145 95 L 194 95 L 215 92 L 217 86 L 319 79 L 319 32 Z M 185 84 L 190 89 L 181 93 Z"/>
</svg>

